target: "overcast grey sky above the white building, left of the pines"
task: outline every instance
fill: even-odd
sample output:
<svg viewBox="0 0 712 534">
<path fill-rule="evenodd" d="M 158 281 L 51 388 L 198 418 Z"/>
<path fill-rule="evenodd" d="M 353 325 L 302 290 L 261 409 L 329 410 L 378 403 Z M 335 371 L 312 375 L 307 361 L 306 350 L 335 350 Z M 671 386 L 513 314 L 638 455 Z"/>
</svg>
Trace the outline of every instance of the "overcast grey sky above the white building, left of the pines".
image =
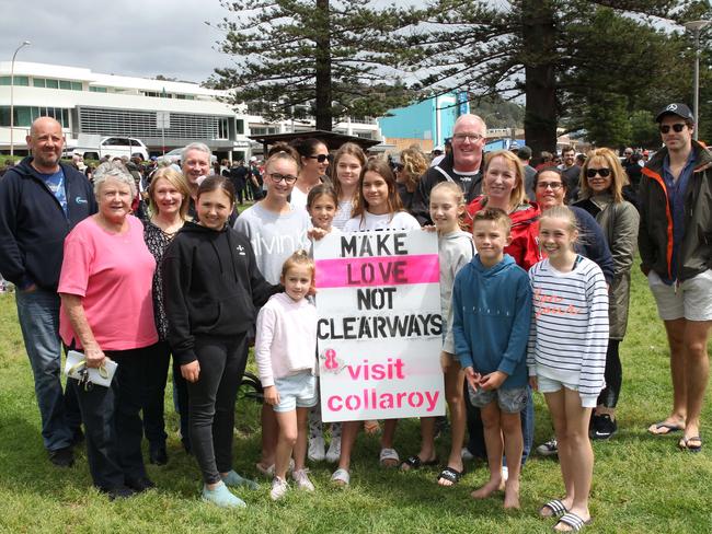
<svg viewBox="0 0 712 534">
<path fill-rule="evenodd" d="M 230 14 L 218 0 L 0 0 L 0 60 L 84 67 L 94 72 L 202 82 L 229 58 L 205 24 Z"/>
</svg>

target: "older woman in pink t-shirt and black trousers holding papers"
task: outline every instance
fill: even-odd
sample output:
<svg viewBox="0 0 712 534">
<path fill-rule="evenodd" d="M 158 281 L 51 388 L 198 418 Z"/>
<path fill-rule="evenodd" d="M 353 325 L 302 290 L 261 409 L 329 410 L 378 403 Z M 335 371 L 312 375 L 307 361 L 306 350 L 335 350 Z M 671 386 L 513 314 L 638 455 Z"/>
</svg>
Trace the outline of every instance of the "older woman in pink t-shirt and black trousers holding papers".
<svg viewBox="0 0 712 534">
<path fill-rule="evenodd" d="M 143 225 L 130 213 L 136 185 L 122 163 L 94 172 L 99 212 L 71 231 L 57 292 L 59 333 L 87 367 L 106 359 L 118 368 L 110 387 L 69 379 L 87 431 L 94 486 L 110 499 L 153 487 L 141 455 L 145 365 L 158 341 L 151 282 L 156 260 L 143 242 Z"/>
</svg>

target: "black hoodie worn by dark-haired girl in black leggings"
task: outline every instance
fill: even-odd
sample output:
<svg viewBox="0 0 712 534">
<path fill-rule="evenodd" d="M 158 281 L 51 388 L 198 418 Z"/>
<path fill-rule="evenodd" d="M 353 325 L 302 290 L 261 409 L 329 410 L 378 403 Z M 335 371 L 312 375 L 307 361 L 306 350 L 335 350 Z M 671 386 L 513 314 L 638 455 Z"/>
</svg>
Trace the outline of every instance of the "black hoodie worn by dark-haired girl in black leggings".
<svg viewBox="0 0 712 534">
<path fill-rule="evenodd" d="M 181 364 L 196 360 L 195 336 L 239 336 L 279 291 L 260 274 L 250 240 L 225 227 L 186 222 L 161 263 L 168 340 Z"/>
</svg>

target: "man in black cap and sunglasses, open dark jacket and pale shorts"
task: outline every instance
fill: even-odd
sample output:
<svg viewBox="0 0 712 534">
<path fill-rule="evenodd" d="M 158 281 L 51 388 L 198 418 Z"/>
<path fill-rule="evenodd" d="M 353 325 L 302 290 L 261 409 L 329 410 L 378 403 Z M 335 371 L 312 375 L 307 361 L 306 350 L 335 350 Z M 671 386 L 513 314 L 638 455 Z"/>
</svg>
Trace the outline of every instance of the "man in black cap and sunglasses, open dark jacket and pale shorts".
<svg viewBox="0 0 712 534">
<path fill-rule="evenodd" d="M 639 245 L 670 347 L 673 410 L 648 432 L 682 430 L 678 446 L 699 452 L 712 325 L 712 154 L 692 139 L 685 104 L 668 105 L 656 121 L 665 147 L 643 169 Z"/>
</svg>

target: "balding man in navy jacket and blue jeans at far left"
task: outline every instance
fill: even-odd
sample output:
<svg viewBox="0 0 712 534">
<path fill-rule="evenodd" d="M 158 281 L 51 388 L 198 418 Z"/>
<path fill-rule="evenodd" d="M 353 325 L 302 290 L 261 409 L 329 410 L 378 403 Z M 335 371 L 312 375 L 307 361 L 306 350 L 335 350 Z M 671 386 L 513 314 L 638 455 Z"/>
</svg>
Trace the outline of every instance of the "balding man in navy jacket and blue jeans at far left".
<svg viewBox="0 0 712 534">
<path fill-rule="evenodd" d="M 57 282 L 65 237 L 96 212 L 96 200 L 87 177 L 59 161 L 65 138 L 57 120 L 37 118 L 26 140 L 32 155 L 0 181 L 0 272 L 18 288 L 45 448 L 55 465 L 68 467 L 81 417 L 76 399 L 61 387 Z"/>
</svg>

